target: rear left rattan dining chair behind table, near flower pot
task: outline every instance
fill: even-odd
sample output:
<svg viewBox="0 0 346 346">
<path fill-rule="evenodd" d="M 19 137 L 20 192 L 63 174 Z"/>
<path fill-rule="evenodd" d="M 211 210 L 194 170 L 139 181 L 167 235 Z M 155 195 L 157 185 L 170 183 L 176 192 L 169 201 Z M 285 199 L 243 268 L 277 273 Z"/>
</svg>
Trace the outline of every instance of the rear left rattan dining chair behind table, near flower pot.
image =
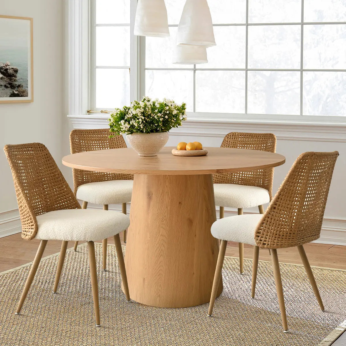
<svg viewBox="0 0 346 346">
<path fill-rule="evenodd" d="M 72 130 L 70 133 L 71 154 L 101 149 L 126 148 L 121 135 L 109 138 L 109 129 Z M 72 169 L 74 193 L 83 201 L 82 209 L 89 203 L 102 204 L 108 210 L 108 204 L 122 204 L 122 212 L 126 214 L 126 202 L 131 201 L 133 174 L 90 172 Z M 122 234 L 126 243 L 126 229 Z M 74 244 L 77 250 L 78 242 Z M 102 269 L 106 270 L 107 239 L 102 242 Z"/>
</svg>

